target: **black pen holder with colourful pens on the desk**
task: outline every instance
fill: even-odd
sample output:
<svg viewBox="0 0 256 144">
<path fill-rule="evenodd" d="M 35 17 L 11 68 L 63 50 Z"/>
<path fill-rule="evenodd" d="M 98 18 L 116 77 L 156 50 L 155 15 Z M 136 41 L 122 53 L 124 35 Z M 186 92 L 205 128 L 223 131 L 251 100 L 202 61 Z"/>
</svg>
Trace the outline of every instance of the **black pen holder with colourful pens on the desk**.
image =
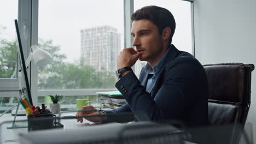
<svg viewBox="0 0 256 144">
<path fill-rule="evenodd" d="M 27 115 L 28 131 L 53 129 L 54 117 L 56 116 L 51 112 L 40 112 L 39 115 Z"/>
</svg>

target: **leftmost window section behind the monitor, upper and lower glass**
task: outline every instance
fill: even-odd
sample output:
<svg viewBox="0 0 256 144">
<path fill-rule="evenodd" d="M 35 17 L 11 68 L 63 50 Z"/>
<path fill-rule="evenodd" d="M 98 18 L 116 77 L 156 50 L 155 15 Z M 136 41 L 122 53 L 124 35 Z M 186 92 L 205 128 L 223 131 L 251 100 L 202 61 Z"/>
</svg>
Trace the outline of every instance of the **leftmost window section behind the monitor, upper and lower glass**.
<svg viewBox="0 0 256 144">
<path fill-rule="evenodd" d="M 18 79 L 16 79 L 18 59 L 14 25 L 14 20 L 18 19 L 18 2 L 18 0 L 0 1 L 0 5 L 4 5 L 0 9 L 0 113 L 16 105 L 15 97 L 19 94 Z M 20 11 L 22 10 L 20 8 Z M 23 19 L 24 15 L 20 15 L 19 18 Z"/>
</svg>

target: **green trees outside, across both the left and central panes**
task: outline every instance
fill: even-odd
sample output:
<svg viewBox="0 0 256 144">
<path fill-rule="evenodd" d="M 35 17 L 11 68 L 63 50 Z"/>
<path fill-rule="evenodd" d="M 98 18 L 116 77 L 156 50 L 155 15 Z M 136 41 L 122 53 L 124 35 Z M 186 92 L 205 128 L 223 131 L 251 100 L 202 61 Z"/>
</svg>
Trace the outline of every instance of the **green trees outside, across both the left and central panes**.
<svg viewBox="0 0 256 144">
<path fill-rule="evenodd" d="M 4 29 L 0 27 L 0 30 Z M 0 31 L 0 34 L 2 30 Z M 80 89 L 80 88 L 113 88 L 115 77 L 105 69 L 96 71 L 83 61 L 65 62 L 66 55 L 60 53 L 60 46 L 53 40 L 38 40 L 38 46 L 49 52 L 54 61 L 38 71 L 39 89 Z M 0 77 L 11 77 L 17 62 L 16 41 L 0 39 Z"/>
</svg>

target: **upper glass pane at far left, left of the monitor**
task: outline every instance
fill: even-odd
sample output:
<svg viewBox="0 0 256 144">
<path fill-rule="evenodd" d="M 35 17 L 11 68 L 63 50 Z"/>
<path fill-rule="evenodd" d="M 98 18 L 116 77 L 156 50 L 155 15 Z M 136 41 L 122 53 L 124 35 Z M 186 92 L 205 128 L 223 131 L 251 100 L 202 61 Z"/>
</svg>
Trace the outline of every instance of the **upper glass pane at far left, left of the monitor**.
<svg viewBox="0 0 256 144">
<path fill-rule="evenodd" d="M 0 78 L 16 78 L 18 0 L 0 1 Z"/>
</svg>

